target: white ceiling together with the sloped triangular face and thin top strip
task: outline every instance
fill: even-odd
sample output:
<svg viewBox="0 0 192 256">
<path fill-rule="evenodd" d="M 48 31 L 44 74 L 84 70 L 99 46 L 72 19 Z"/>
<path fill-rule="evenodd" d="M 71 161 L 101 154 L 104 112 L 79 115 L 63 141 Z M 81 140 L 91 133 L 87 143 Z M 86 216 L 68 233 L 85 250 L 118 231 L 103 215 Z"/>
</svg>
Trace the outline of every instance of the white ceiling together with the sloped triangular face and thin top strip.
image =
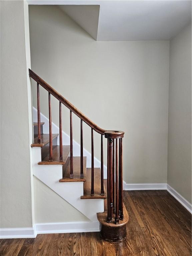
<svg viewBox="0 0 192 256">
<path fill-rule="evenodd" d="M 28 3 L 60 5 L 97 41 L 169 40 L 191 21 L 191 0 L 28 0 Z M 87 8 L 87 5 L 92 6 Z M 100 10 L 94 5 L 100 5 Z"/>
</svg>

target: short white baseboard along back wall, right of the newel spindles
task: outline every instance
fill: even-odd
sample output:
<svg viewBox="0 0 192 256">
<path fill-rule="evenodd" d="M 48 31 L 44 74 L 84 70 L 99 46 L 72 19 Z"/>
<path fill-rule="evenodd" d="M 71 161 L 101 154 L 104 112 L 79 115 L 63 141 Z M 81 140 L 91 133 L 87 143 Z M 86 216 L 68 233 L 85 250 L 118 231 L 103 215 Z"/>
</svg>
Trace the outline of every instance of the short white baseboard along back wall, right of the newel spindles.
<svg viewBox="0 0 192 256">
<path fill-rule="evenodd" d="M 123 182 L 123 190 L 166 190 L 167 183 L 125 183 Z"/>
</svg>

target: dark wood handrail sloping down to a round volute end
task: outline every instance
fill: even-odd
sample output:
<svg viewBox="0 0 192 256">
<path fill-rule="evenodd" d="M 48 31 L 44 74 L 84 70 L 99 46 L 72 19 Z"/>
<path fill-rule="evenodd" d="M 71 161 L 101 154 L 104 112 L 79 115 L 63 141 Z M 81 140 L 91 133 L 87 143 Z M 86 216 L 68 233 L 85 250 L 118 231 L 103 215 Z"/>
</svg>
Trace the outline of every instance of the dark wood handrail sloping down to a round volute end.
<svg viewBox="0 0 192 256">
<path fill-rule="evenodd" d="M 29 76 L 33 78 L 38 84 L 45 88 L 49 93 L 51 93 L 56 99 L 63 103 L 68 109 L 70 109 L 74 114 L 81 118 L 86 124 L 88 124 L 96 132 L 105 135 L 106 138 L 123 138 L 124 132 L 122 131 L 109 131 L 101 129 L 94 122 L 92 122 L 88 117 L 86 117 L 81 111 L 79 111 L 75 106 L 73 106 L 68 100 L 66 100 L 61 94 L 54 90 L 48 83 L 46 83 L 42 78 L 35 74 L 31 69 L 29 69 Z"/>
</svg>

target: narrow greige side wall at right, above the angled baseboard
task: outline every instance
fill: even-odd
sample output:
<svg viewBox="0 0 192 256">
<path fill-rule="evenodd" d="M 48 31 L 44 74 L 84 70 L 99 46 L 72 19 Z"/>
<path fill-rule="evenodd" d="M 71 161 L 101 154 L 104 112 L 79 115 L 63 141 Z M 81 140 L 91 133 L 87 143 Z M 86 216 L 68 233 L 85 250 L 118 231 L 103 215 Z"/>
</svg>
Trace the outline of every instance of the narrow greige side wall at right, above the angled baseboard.
<svg viewBox="0 0 192 256">
<path fill-rule="evenodd" d="M 170 41 L 167 182 L 191 202 L 191 25 Z"/>
</svg>

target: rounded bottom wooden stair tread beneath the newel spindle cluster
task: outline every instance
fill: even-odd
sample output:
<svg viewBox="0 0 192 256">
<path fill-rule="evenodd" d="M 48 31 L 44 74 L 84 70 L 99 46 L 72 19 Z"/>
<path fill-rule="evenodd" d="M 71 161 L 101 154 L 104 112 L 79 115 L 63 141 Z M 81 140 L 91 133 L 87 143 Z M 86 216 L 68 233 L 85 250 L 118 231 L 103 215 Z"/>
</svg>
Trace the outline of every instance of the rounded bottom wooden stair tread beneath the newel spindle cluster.
<svg viewBox="0 0 192 256">
<path fill-rule="evenodd" d="M 107 200 L 104 200 L 104 201 L 107 201 Z M 104 206 L 105 208 L 105 206 Z M 124 218 L 123 220 L 120 220 L 119 219 L 119 224 L 115 224 L 115 214 L 113 213 L 113 219 L 110 223 L 107 223 L 107 210 L 105 208 L 105 211 L 104 212 L 98 212 L 97 213 L 97 219 L 98 221 L 102 224 L 102 225 L 105 225 L 105 226 L 110 226 L 110 227 L 114 227 L 114 228 L 118 228 L 120 226 L 124 226 L 128 220 L 129 220 L 129 215 L 127 213 L 127 210 L 125 208 L 125 205 L 123 204 L 123 214 L 124 214 Z"/>
</svg>

